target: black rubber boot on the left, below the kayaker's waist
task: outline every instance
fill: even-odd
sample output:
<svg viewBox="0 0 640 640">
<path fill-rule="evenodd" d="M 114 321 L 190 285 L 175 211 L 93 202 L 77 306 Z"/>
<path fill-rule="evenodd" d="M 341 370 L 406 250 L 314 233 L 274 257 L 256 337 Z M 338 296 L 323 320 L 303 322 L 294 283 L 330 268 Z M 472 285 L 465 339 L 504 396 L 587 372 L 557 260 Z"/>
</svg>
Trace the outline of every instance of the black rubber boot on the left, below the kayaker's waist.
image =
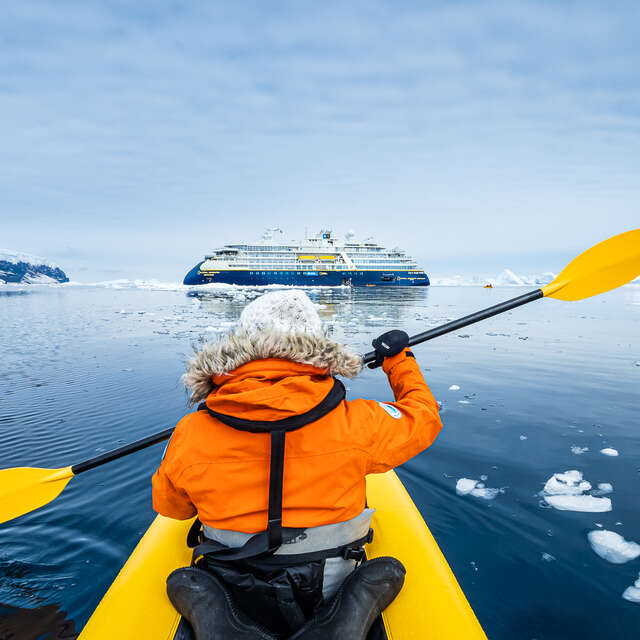
<svg viewBox="0 0 640 640">
<path fill-rule="evenodd" d="M 213 575 L 185 567 L 167 578 L 169 600 L 193 627 L 196 640 L 274 640 L 233 604 Z"/>
</svg>

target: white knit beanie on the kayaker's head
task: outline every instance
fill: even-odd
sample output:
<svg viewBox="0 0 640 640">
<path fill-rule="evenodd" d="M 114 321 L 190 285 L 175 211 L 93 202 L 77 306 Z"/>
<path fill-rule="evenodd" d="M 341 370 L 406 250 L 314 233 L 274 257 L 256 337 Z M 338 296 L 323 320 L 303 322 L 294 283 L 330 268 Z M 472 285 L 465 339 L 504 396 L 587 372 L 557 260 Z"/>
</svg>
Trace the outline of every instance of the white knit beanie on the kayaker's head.
<svg viewBox="0 0 640 640">
<path fill-rule="evenodd" d="M 249 334 L 267 328 L 281 333 L 323 335 L 315 305 L 302 291 L 273 291 L 250 302 L 240 314 L 238 326 Z"/>
</svg>

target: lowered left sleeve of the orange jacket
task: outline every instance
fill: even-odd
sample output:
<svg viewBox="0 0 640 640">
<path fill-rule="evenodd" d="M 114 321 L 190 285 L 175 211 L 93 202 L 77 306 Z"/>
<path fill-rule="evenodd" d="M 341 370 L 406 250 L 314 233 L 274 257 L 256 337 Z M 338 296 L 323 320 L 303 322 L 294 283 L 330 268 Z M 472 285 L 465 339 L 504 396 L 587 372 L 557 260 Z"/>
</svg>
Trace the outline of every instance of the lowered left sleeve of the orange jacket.
<svg viewBox="0 0 640 640">
<path fill-rule="evenodd" d="M 185 437 L 180 428 L 181 423 L 182 420 L 178 423 L 169 440 L 160 467 L 153 474 L 151 484 L 153 486 L 154 510 L 169 518 L 187 520 L 196 515 L 196 508 L 187 492 L 177 487 L 172 480 L 181 470 L 179 455 L 177 455 L 180 450 L 180 441 Z"/>
</svg>

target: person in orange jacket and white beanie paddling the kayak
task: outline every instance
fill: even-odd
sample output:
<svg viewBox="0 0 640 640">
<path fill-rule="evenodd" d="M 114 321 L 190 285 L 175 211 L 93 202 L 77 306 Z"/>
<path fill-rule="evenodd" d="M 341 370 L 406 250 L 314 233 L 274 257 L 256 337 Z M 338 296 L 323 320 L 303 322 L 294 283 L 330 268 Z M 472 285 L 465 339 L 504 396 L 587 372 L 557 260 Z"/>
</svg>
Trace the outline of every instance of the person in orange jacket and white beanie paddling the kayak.
<svg viewBox="0 0 640 640">
<path fill-rule="evenodd" d="M 189 361 L 201 403 L 176 426 L 153 476 L 154 509 L 198 516 L 195 566 L 167 591 L 197 640 L 366 638 L 404 567 L 364 560 L 369 473 L 430 446 L 438 405 L 403 331 L 373 341 L 395 402 L 345 400 L 335 377 L 360 356 L 331 340 L 300 291 L 267 293 Z M 286 443 L 286 444 L 285 444 Z"/>
</svg>

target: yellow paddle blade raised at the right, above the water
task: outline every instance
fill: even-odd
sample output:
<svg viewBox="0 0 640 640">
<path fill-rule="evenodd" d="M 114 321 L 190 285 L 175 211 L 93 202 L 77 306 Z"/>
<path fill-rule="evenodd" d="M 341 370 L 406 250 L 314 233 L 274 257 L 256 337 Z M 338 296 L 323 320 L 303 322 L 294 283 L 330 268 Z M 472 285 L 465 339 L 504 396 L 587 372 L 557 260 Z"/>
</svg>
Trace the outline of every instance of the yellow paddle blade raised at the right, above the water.
<svg viewBox="0 0 640 640">
<path fill-rule="evenodd" d="M 640 229 L 613 236 L 574 258 L 542 293 L 582 300 L 611 291 L 640 276 Z"/>
</svg>

